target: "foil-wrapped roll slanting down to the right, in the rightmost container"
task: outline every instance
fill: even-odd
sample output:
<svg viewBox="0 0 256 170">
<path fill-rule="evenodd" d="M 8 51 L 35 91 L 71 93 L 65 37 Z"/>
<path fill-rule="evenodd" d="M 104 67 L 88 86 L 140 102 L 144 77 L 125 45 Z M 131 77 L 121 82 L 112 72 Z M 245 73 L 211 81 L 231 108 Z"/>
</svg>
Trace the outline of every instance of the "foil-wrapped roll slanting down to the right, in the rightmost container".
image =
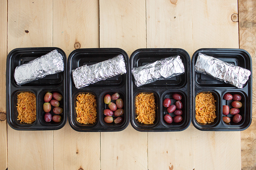
<svg viewBox="0 0 256 170">
<path fill-rule="evenodd" d="M 195 71 L 212 76 L 213 78 L 232 84 L 238 88 L 243 88 L 243 85 L 251 75 L 251 71 L 247 69 L 226 63 L 220 59 L 202 53 L 198 54 Z"/>
</svg>

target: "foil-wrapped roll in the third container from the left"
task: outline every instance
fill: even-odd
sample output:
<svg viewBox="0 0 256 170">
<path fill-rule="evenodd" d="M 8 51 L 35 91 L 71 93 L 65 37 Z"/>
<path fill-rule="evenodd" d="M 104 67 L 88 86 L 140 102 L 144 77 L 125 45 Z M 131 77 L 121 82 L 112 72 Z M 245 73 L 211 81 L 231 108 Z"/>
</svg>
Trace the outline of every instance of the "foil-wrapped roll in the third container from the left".
<svg viewBox="0 0 256 170">
<path fill-rule="evenodd" d="M 134 67 L 132 73 L 137 87 L 156 80 L 163 80 L 185 72 L 180 56 L 163 58 L 154 63 L 149 63 L 140 67 Z"/>
</svg>

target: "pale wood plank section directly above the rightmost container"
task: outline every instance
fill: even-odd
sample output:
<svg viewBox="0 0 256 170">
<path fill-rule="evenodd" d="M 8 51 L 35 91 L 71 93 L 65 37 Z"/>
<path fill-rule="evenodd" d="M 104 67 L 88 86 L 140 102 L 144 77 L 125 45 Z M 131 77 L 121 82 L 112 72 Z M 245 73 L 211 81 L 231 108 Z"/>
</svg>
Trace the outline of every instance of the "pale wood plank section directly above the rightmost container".
<svg viewBox="0 0 256 170">
<path fill-rule="evenodd" d="M 238 13 L 238 2 L 192 0 L 193 51 L 199 48 L 239 48 L 238 22 L 231 20 Z"/>
</svg>

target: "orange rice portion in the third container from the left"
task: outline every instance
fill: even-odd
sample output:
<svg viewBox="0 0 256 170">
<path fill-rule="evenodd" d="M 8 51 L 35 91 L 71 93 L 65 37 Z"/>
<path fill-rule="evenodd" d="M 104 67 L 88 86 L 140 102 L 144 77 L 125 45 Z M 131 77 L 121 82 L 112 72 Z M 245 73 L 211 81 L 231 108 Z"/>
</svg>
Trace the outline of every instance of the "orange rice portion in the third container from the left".
<svg viewBox="0 0 256 170">
<path fill-rule="evenodd" d="M 153 93 L 136 96 L 136 119 L 143 124 L 153 124 L 156 118 L 156 103 Z"/>
</svg>

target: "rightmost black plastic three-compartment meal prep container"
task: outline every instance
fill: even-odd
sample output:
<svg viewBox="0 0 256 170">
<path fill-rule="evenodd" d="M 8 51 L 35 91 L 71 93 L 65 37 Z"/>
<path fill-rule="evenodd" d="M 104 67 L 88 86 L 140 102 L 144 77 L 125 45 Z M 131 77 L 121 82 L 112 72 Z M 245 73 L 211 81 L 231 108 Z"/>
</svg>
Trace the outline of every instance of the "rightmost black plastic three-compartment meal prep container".
<svg viewBox="0 0 256 170">
<path fill-rule="evenodd" d="M 198 54 L 206 54 L 218 58 L 230 64 L 234 64 L 251 71 L 249 80 L 245 83 L 243 88 L 237 88 L 231 84 L 224 83 L 220 80 L 214 79 L 208 75 L 195 72 L 195 63 L 197 61 Z M 252 119 L 252 63 L 250 54 L 243 49 L 229 49 L 229 48 L 202 48 L 197 50 L 192 57 L 192 124 L 195 128 L 202 131 L 242 131 L 247 129 L 251 124 Z M 214 122 L 210 124 L 198 123 L 195 119 L 195 97 L 200 92 L 211 92 L 216 100 L 216 118 Z M 227 101 L 223 99 L 223 95 L 226 93 L 241 95 L 240 115 L 242 120 L 238 123 L 232 121 L 230 113 L 227 115 L 230 117 L 230 123 L 225 123 L 222 117 L 222 106 L 228 105 L 233 108 L 231 103 L 234 100 Z"/>
</svg>

